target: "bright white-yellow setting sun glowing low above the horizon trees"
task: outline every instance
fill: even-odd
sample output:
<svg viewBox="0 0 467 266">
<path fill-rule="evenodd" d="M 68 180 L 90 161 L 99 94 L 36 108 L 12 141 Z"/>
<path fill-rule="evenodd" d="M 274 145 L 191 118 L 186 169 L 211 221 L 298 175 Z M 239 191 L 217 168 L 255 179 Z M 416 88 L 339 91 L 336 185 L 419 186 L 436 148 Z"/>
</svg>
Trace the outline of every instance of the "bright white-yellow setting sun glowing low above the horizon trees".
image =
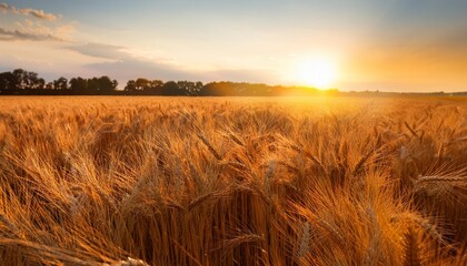
<svg viewBox="0 0 467 266">
<path fill-rule="evenodd" d="M 330 58 L 306 59 L 297 64 L 296 79 L 302 85 L 330 89 L 336 85 L 337 65 Z"/>
</svg>

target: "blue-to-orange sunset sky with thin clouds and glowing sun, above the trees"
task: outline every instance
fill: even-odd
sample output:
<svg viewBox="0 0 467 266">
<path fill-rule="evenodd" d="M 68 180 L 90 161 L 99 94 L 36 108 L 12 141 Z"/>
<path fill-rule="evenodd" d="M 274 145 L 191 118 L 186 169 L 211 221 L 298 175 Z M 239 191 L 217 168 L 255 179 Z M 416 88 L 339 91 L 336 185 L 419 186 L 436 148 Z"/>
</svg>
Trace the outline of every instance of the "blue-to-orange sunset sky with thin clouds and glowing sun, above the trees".
<svg viewBox="0 0 467 266">
<path fill-rule="evenodd" d="M 0 72 L 467 91 L 464 0 L 0 0 Z M 326 88 L 324 88 L 326 89 Z"/>
</svg>

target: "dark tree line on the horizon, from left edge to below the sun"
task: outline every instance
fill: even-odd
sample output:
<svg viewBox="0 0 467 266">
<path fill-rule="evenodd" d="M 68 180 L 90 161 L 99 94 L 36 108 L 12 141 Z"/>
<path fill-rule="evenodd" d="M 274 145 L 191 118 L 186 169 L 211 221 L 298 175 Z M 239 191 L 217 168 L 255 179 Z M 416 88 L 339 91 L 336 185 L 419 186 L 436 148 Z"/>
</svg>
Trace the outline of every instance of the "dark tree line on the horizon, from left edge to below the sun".
<svg viewBox="0 0 467 266">
<path fill-rule="evenodd" d="M 267 85 L 247 82 L 167 81 L 139 78 L 129 80 L 123 90 L 107 75 L 70 80 L 61 76 L 46 82 L 38 73 L 16 69 L 0 73 L 2 95 L 186 95 L 186 96 L 276 96 L 308 95 L 318 90 L 304 86 Z M 337 92 L 337 90 L 332 91 Z"/>
</svg>

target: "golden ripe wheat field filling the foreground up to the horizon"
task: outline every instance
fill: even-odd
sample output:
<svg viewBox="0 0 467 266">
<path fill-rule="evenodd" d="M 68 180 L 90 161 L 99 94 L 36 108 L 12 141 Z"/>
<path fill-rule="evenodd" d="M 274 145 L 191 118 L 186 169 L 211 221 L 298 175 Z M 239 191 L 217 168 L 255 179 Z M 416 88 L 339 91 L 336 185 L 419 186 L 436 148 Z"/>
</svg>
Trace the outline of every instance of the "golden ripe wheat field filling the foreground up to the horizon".
<svg viewBox="0 0 467 266">
<path fill-rule="evenodd" d="M 461 98 L 0 98 L 0 265 L 466 265 Z"/>
</svg>

